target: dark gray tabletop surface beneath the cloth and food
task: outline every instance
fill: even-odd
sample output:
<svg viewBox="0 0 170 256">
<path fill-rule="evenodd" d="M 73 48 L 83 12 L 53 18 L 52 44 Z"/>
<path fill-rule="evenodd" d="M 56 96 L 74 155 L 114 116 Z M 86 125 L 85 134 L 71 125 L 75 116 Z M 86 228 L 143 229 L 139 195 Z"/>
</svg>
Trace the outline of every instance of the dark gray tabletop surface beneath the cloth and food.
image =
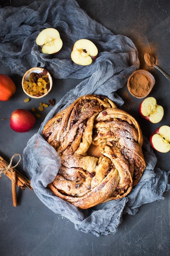
<svg viewBox="0 0 170 256">
<path fill-rule="evenodd" d="M 19 7 L 33 0 L 1 0 L 4 6 Z M 158 70 L 144 65 L 144 53 L 155 54 L 159 67 L 170 75 L 170 2 L 168 0 L 78 0 L 88 15 L 113 31 L 128 36 L 139 51 L 140 68 L 155 76 L 155 86 L 149 96 L 157 99 L 165 114 L 159 124 L 151 124 L 139 116 L 141 100 L 132 97 L 125 85 L 118 94 L 124 99 L 122 108 L 139 122 L 148 138 L 161 125 L 170 126 L 170 81 Z M 0 101 L 0 155 L 7 161 L 20 153 L 27 141 L 38 131 L 51 107 L 45 108 L 33 129 L 26 133 L 11 130 L 9 118 L 17 108 L 38 108 L 40 101 L 57 102 L 80 80 L 53 79 L 53 91 L 42 100 L 24 103 L 26 95 L 21 89 L 22 77 L 11 75 L 8 67 L 0 63 L 0 73 L 11 76 L 17 86 L 10 101 Z M 170 170 L 170 152 L 158 153 L 157 166 Z M 23 173 L 22 161 L 17 167 Z M 2 175 L 0 180 L 0 256 L 168 256 L 170 255 L 170 192 L 164 200 L 140 207 L 135 216 L 124 215 L 117 233 L 96 237 L 77 231 L 72 222 L 49 210 L 29 189 L 17 189 L 18 207 L 13 207 L 11 182 Z"/>
</svg>

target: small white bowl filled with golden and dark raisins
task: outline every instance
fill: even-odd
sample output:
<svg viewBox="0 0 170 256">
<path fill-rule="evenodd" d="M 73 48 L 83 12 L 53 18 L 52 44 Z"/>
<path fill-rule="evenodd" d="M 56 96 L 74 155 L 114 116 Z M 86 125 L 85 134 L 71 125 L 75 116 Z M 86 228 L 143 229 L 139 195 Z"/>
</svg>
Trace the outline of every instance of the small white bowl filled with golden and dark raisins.
<svg viewBox="0 0 170 256">
<path fill-rule="evenodd" d="M 42 67 L 32 67 L 22 77 L 22 89 L 31 98 L 46 96 L 53 86 L 50 73 Z"/>
</svg>

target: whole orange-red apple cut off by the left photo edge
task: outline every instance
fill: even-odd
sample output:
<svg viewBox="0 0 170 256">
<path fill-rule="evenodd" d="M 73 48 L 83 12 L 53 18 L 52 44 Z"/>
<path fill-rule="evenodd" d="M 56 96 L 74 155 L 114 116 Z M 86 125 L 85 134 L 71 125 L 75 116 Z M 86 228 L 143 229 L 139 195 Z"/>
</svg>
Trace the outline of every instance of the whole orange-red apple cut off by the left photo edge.
<svg viewBox="0 0 170 256">
<path fill-rule="evenodd" d="M 5 74 L 0 74 L 0 101 L 9 101 L 15 91 L 16 86 L 12 79 Z"/>
</svg>

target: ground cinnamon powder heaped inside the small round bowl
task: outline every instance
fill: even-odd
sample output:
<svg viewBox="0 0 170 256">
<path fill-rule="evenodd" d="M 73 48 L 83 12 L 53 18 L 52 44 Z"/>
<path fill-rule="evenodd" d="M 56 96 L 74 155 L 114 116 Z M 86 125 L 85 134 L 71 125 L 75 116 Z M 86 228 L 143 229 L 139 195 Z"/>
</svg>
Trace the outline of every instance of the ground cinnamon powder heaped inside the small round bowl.
<svg viewBox="0 0 170 256">
<path fill-rule="evenodd" d="M 150 90 L 151 81 L 148 76 L 141 73 L 135 73 L 133 76 L 131 76 L 129 85 L 130 92 L 132 92 L 132 94 L 136 95 L 137 97 L 142 97 Z"/>
</svg>

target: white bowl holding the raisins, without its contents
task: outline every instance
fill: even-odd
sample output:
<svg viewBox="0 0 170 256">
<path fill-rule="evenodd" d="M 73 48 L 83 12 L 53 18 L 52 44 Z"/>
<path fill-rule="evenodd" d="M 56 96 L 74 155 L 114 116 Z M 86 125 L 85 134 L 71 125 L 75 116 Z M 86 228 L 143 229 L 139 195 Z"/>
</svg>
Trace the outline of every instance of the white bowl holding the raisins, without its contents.
<svg viewBox="0 0 170 256">
<path fill-rule="evenodd" d="M 46 93 L 42 94 L 41 96 L 35 96 L 35 95 L 29 94 L 29 93 L 26 92 L 26 90 L 24 89 L 24 81 L 28 81 L 30 74 L 31 74 L 31 73 L 38 73 L 38 74 L 40 74 L 40 73 L 43 72 L 43 70 L 44 70 L 44 68 L 42 68 L 42 67 L 32 67 L 30 70 L 27 70 L 27 71 L 25 72 L 24 76 L 22 77 L 22 89 L 23 89 L 24 93 L 25 93 L 27 96 L 29 96 L 29 97 L 31 97 L 31 98 L 34 98 L 34 99 L 40 99 L 40 98 L 42 98 L 42 97 L 45 97 L 45 96 L 46 96 L 47 94 L 49 94 L 49 92 L 51 91 L 51 88 L 52 88 L 52 86 L 53 86 L 53 80 L 52 80 L 51 74 L 50 74 L 48 71 L 47 71 L 47 75 L 48 75 L 48 78 L 49 78 L 49 82 L 50 82 L 50 83 L 49 83 L 49 89 L 47 90 Z"/>
</svg>

